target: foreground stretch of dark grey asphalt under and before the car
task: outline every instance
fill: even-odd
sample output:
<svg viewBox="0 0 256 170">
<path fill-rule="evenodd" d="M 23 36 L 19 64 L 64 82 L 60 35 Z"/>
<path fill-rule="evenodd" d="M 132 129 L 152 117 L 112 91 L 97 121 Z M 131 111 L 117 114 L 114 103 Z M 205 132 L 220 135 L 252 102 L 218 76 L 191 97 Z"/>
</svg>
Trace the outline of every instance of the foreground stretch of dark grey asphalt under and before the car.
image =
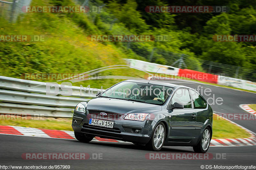
<svg viewBox="0 0 256 170">
<path fill-rule="evenodd" d="M 201 169 L 201 165 L 255 165 L 256 146 L 210 147 L 208 153 L 225 153 L 226 159 L 212 160 L 148 160 L 149 151 L 133 144 L 84 144 L 76 140 L 1 135 L 2 165 L 70 165 L 71 169 Z M 102 159 L 87 160 L 23 160 L 22 153 L 103 153 Z M 193 152 L 192 147 L 164 147 L 161 152 Z M 239 160 L 239 161 L 238 161 Z"/>
</svg>

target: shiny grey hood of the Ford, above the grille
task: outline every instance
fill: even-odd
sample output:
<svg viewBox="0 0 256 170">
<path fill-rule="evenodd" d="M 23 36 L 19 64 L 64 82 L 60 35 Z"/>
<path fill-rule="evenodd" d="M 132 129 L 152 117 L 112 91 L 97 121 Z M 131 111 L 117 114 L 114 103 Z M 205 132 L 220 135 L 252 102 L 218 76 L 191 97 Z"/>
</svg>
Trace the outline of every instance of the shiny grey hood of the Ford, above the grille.
<svg viewBox="0 0 256 170">
<path fill-rule="evenodd" d="M 159 111 L 162 110 L 162 106 L 136 101 L 97 97 L 87 102 L 86 109 L 102 110 L 127 115 L 129 113 L 151 113 Z"/>
</svg>

